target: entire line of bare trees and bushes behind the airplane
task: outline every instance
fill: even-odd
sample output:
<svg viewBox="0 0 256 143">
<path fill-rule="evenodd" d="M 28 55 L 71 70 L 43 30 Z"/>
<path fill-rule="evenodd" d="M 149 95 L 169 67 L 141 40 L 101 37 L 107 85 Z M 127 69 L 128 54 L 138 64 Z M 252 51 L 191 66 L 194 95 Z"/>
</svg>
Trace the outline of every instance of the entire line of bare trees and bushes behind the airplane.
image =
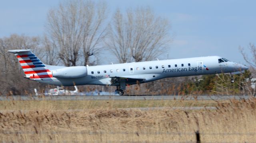
<svg viewBox="0 0 256 143">
<path fill-rule="evenodd" d="M 23 71 L 16 57 L 7 52 L 10 49 L 31 49 L 48 65 L 98 65 L 101 54 L 106 51 L 119 63 L 150 61 L 170 46 L 170 31 L 170 22 L 155 14 L 150 7 L 128 8 L 125 12 L 116 9 L 111 16 L 106 2 L 62 1 L 48 11 L 43 35 L 12 34 L 0 38 L 0 94 L 27 94 L 35 87 L 44 90 L 48 86 L 22 79 Z M 255 46 L 251 44 L 250 47 L 256 55 Z M 240 49 L 246 59 L 245 53 Z M 253 62 L 251 65 L 254 66 Z M 148 93 L 151 89 L 158 94 L 176 94 L 180 91 L 190 94 L 195 91 L 217 93 L 219 87 L 224 85 L 219 83 L 224 78 L 216 75 L 202 77 L 204 84 L 196 80 L 196 77 L 182 77 L 163 79 L 142 84 L 143 86 L 134 85 L 132 88 Z M 235 86 L 238 91 L 242 91 L 241 83 L 245 83 L 244 79 L 246 78 L 239 82 L 239 86 Z M 168 85 L 173 85 L 172 88 L 175 86 L 175 92 L 170 92 L 174 90 Z M 162 88 L 164 89 L 159 90 Z"/>
</svg>

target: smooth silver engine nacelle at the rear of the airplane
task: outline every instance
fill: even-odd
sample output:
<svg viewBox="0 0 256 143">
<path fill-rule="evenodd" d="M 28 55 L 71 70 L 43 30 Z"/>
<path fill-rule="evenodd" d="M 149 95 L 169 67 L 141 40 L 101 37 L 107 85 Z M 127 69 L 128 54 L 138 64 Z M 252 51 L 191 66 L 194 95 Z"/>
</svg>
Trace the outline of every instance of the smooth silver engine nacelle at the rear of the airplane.
<svg viewBox="0 0 256 143">
<path fill-rule="evenodd" d="M 52 76 L 56 78 L 81 78 L 87 76 L 87 68 L 84 66 L 64 67 L 53 70 Z"/>
</svg>

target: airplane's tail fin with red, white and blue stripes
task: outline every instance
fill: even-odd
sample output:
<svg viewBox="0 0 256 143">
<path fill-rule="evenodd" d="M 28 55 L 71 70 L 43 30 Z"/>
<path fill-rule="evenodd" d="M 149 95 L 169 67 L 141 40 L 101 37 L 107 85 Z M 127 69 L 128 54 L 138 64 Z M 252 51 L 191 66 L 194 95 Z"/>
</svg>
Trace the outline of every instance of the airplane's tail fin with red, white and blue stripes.
<svg viewBox="0 0 256 143">
<path fill-rule="evenodd" d="M 26 78 L 51 78 L 52 72 L 28 50 L 9 50 L 18 58 L 20 65 L 26 74 Z"/>
</svg>

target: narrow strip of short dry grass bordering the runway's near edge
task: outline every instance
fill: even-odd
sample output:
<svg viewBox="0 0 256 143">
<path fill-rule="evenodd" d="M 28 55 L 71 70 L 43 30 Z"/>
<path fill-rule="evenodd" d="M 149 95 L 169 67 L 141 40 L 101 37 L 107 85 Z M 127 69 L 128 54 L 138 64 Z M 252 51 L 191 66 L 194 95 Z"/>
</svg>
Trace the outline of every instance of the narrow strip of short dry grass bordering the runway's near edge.
<svg viewBox="0 0 256 143">
<path fill-rule="evenodd" d="M 222 101 L 224 102 L 224 101 Z M 216 106 L 213 100 L 4 100 L 0 111 Z"/>
</svg>

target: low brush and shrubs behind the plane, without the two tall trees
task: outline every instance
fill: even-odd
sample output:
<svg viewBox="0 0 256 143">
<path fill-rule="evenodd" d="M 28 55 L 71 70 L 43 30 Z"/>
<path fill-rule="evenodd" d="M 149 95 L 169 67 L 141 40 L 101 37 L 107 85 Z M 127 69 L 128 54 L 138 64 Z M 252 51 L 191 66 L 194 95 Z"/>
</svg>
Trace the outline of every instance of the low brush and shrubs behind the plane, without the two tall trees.
<svg viewBox="0 0 256 143">
<path fill-rule="evenodd" d="M 7 50 L 12 47 L 22 47 L 22 49 L 32 49 L 44 63 L 58 65 L 61 59 L 51 55 L 47 48 L 40 43 L 42 39 L 38 37 L 29 37 L 26 35 L 10 35 L 10 37 L 0 38 L 0 95 L 16 94 L 29 95 L 34 94 L 34 88 L 44 93 L 45 88 L 55 88 L 46 84 L 40 84 L 23 78 L 24 74 L 20 68 L 20 63 Z M 252 51 L 256 48 L 251 44 Z M 51 57 L 52 56 L 52 57 Z M 244 54 L 245 56 L 245 54 Z M 246 57 L 246 56 L 245 56 Z M 49 59 L 54 58 L 50 61 Z M 249 59 L 248 59 L 249 60 Z M 254 64 L 254 61 L 250 61 Z M 253 66 L 253 65 L 252 65 Z M 250 71 L 243 74 L 234 75 L 235 83 L 230 83 L 230 74 L 212 74 L 203 76 L 189 76 L 166 78 L 154 82 L 135 84 L 127 88 L 128 94 L 168 94 L 168 95 L 200 95 L 200 94 L 218 94 L 218 95 L 252 95 L 255 96 L 255 88 L 251 86 L 252 75 L 255 73 L 251 66 Z M 255 75 L 254 75 L 255 76 Z M 104 90 L 112 92 L 115 88 L 105 86 L 80 86 L 81 91 Z"/>
</svg>

